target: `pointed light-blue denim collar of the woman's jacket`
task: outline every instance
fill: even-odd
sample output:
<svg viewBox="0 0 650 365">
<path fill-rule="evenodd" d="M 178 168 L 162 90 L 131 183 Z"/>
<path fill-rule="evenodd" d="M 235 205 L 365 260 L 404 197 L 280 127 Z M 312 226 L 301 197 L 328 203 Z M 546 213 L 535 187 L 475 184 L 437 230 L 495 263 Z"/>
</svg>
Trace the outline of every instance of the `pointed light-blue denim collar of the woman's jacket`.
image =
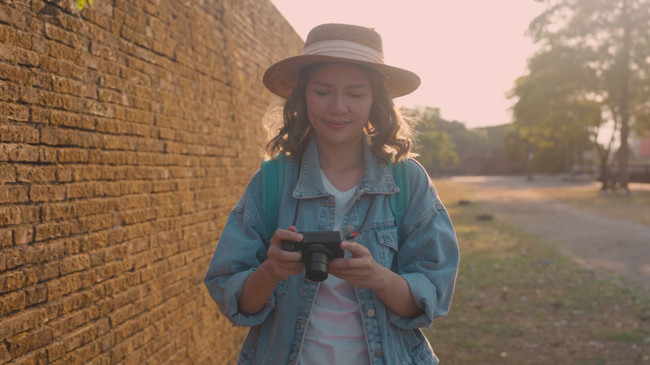
<svg viewBox="0 0 650 365">
<path fill-rule="evenodd" d="M 367 138 L 363 138 L 363 175 L 357 187 L 356 196 L 361 194 L 394 194 L 399 191 L 386 164 L 370 151 Z M 318 164 L 318 145 L 316 138 L 309 140 L 309 145 L 302 156 L 302 169 L 293 197 L 303 199 L 328 195 L 320 178 Z"/>
</svg>

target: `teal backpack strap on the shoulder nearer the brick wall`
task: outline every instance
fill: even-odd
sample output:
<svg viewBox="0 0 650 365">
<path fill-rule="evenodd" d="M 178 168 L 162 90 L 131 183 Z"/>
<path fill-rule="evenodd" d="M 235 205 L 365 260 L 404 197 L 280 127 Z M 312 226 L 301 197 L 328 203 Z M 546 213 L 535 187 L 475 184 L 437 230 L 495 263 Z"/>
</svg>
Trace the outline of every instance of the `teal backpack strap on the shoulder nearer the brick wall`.
<svg viewBox="0 0 650 365">
<path fill-rule="evenodd" d="M 270 160 L 262 161 L 262 212 L 266 216 L 266 232 L 273 236 L 278 229 L 280 197 L 284 186 L 284 160 L 280 154 Z"/>
</svg>

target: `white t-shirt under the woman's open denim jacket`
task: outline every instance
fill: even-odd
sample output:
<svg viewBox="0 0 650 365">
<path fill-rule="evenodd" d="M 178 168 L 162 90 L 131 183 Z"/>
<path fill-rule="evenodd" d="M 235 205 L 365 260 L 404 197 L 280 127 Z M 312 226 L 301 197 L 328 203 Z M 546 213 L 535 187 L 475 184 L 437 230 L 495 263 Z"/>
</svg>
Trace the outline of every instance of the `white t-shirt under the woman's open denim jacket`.
<svg viewBox="0 0 650 365">
<path fill-rule="evenodd" d="M 356 187 L 339 192 L 320 171 L 325 189 L 335 198 L 333 231 L 342 231 L 343 213 Z M 370 351 L 365 337 L 359 299 L 352 284 L 328 275 L 318 286 L 302 347 L 300 365 L 359 364 L 370 365 Z"/>
</svg>

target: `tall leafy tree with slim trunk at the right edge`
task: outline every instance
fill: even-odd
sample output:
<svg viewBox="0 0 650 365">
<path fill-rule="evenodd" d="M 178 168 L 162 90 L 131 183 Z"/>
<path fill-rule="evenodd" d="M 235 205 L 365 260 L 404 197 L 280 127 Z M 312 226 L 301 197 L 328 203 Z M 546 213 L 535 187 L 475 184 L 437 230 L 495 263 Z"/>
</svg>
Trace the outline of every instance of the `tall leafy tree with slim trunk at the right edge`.
<svg viewBox="0 0 650 365">
<path fill-rule="evenodd" d="M 579 123 L 564 129 L 577 132 L 571 138 L 586 130 L 592 140 L 604 123 L 614 125 L 620 142 L 619 183 L 629 190 L 627 133 L 630 126 L 650 125 L 650 0 L 545 3 L 546 10 L 528 27 L 533 40 L 541 43 L 541 51 L 529 63 L 530 73 L 513 90 L 513 96 L 520 98 L 515 123 L 521 125 L 522 137 L 534 144 L 540 142 L 538 136 L 559 136 L 551 129 L 565 123 Z M 559 63 L 536 68 L 535 62 L 544 63 L 546 58 Z M 542 110 L 536 110 L 543 118 L 533 115 L 532 95 L 537 91 L 531 88 L 541 90 Z"/>
</svg>

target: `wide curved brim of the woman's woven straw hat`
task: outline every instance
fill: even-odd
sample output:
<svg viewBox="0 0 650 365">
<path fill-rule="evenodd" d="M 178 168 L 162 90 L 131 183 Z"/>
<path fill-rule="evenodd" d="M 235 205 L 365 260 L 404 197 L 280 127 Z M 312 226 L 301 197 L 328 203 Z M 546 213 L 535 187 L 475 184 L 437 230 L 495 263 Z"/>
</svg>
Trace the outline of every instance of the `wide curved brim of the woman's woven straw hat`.
<svg viewBox="0 0 650 365">
<path fill-rule="evenodd" d="M 325 55 L 300 55 L 285 58 L 266 70 L 262 82 L 273 94 L 287 99 L 298 84 L 300 69 L 316 62 L 346 62 L 368 66 L 383 75 L 383 83 L 391 98 L 411 94 L 420 86 L 420 77 L 407 69 L 386 64 Z"/>
</svg>

